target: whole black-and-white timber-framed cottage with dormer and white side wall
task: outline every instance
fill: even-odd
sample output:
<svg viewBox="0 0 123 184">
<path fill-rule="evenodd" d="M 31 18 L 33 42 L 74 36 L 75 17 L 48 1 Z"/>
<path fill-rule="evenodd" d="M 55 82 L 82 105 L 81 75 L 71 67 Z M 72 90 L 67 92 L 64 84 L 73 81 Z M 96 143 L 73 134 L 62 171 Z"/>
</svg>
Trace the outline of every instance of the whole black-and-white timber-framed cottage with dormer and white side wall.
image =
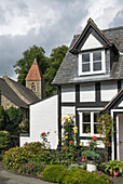
<svg viewBox="0 0 123 184">
<path fill-rule="evenodd" d="M 96 131 L 96 116 L 104 111 L 115 120 L 109 157 L 123 161 L 123 27 L 100 30 L 92 18 L 80 35 L 76 35 L 53 80 L 58 95 L 30 105 L 30 137 L 20 137 L 20 145 L 38 141 L 41 131 L 51 134 L 52 147 L 62 144 L 62 121 L 76 115 L 78 144 L 87 144 L 86 128 Z M 52 137 L 53 136 L 53 137 Z M 59 142 L 57 141 L 59 139 Z M 100 143 L 99 148 L 104 148 Z"/>
</svg>

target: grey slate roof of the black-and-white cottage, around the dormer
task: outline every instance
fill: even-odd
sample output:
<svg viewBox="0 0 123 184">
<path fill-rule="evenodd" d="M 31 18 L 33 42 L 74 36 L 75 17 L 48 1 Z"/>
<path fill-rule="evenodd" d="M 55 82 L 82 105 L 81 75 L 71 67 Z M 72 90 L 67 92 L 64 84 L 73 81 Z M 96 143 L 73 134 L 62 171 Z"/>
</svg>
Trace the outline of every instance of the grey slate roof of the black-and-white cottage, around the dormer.
<svg viewBox="0 0 123 184">
<path fill-rule="evenodd" d="M 120 52 L 123 53 L 123 27 L 115 27 L 110 29 L 101 30 L 108 39 L 118 48 Z M 110 75 L 98 75 L 98 76 L 78 76 L 78 58 L 76 55 L 71 54 L 69 51 L 73 43 L 78 39 L 79 35 L 76 35 L 68 49 L 68 52 L 52 82 L 52 84 L 69 84 L 69 83 L 82 83 L 92 81 L 105 81 L 105 80 L 117 80 L 123 79 L 123 55 L 120 55 L 119 62 L 112 64 L 112 69 Z"/>
</svg>

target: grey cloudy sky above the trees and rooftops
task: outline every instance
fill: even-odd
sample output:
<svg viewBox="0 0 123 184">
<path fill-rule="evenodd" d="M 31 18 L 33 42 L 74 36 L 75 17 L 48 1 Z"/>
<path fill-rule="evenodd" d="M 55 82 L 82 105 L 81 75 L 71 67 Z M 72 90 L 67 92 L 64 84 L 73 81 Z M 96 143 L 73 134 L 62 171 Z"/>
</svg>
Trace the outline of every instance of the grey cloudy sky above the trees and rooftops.
<svg viewBox="0 0 123 184">
<path fill-rule="evenodd" d="M 92 17 L 100 29 L 123 26 L 123 0 L 0 0 L 0 77 L 33 44 L 45 55 L 69 45 Z"/>
</svg>

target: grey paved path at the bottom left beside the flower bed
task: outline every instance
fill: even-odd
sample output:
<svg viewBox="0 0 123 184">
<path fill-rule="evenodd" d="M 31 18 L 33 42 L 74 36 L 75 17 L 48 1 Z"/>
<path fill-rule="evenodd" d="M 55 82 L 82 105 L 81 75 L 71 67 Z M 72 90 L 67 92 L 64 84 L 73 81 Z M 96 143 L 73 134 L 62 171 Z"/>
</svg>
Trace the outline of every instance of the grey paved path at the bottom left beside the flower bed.
<svg viewBox="0 0 123 184">
<path fill-rule="evenodd" d="M 0 184 L 50 184 L 50 182 L 5 171 L 0 162 Z"/>
</svg>

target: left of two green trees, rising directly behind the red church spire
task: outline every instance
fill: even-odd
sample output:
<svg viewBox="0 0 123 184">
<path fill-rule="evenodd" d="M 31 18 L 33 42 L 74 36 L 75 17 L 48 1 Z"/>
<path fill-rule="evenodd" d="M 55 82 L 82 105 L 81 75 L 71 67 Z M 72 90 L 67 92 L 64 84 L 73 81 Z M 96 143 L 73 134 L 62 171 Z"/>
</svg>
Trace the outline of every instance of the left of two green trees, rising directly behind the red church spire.
<svg viewBox="0 0 123 184">
<path fill-rule="evenodd" d="M 13 66 L 15 69 L 15 73 L 18 75 L 17 81 L 25 86 L 25 78 L 29 71 L 29 68 L 33 62 L 35 58 L 37 58 L 39 67 L 42 70 L 42 74 L 45 73 L 47 68 L 47 57 L 45 57 L 45 51 L 42 47 L 38 48 L 37 45 L 33 45 L 32 48 L 29 48 L 23 53 L 23 58 L 18 60 L 16 64 Z"/>
</svg>

